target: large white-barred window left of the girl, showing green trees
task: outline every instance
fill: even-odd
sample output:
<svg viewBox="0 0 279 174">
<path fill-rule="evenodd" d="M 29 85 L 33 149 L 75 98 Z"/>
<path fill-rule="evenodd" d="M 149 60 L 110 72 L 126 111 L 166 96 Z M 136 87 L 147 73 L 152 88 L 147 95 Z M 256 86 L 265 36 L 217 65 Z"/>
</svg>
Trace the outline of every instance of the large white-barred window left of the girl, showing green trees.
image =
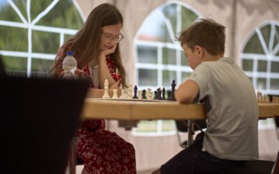
<svg viewBox="0 0 279 174">
<path fill-rule="evenodd" d="M 7 72 L 46 76 L 59 47 L 84 21 L 75 0 L 0 1 L 0 54 Z"/>
</svg>

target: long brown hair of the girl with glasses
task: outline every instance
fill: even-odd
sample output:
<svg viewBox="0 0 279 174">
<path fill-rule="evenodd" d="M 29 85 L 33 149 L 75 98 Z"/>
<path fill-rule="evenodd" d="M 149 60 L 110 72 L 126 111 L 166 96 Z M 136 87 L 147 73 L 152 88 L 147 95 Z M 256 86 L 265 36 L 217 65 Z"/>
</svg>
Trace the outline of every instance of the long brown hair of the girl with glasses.
<svg viewBox="0 0 279 174">
<path fill-rule="evenodd" d="M 68 50 L 75 52 L 77 68 L 79 69 L 82 69 L 93 58 L 98 58 L 102 27 L 119 23 L 123 25 L 123 17 L 116 6 L 110 3 L 102 3 L 94 8 L 86 19 L 82 29 L 73 38 L 67 40 L 59 49 L 50 72 L 54 76 L 57 76 L 61 72 L 63 58 L 66 57 Z M 115 52 L 112 54 L 112 58 L 121 75 L 122 86 L 127 87 L 126 71 L 123 68 L 119 45 L 117 45 Z"/>
</svg>

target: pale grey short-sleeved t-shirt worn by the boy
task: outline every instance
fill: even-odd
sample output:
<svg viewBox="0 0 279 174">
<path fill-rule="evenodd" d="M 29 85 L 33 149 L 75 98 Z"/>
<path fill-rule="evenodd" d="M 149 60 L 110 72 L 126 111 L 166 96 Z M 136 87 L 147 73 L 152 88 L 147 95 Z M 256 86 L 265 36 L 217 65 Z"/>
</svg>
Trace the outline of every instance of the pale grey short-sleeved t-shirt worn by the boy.
<svg viewBox="0 0 279 174">
<path fill-rule="evenodd" d="M 220 58 L 198 65 L 189 79 L 199 86 L 206 110 L 206 151 L 222 159 L 257 159 L 257 97 L 243 70 L 231 58 Z"/>
</svg>

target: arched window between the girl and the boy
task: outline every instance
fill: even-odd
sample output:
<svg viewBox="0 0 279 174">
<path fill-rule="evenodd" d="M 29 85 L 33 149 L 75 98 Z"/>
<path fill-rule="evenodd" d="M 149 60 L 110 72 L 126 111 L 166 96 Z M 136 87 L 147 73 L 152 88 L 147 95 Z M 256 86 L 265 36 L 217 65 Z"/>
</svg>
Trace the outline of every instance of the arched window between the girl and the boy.
<svg viewBox="0 0 279 174">
<path fill-rule="evenodd" d="M 181 84 L 192 72 L 176 36 L 201 15 L 179 1 L 168 1 L 153 10 L 135 36 L 135 84 L 139 89 L 171 89 L 172 80 Z M 177 88 L 177 86 L 176 86 Z M 168 134 L 174 132 L 172 120 L 141 121 L 134 133 Z"/>
</svg>

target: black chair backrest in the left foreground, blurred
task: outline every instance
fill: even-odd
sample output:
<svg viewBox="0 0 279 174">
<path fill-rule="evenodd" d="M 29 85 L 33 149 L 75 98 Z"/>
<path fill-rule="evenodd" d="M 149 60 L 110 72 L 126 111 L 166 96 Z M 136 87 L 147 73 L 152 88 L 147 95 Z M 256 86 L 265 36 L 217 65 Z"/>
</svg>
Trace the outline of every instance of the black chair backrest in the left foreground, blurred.
<svg viewBox="0 0 279 174">
<path fill-rule="evenodd" d="M 89 83 L 0 78 L 1 172 L 65 173 Z"/>
</svg>

